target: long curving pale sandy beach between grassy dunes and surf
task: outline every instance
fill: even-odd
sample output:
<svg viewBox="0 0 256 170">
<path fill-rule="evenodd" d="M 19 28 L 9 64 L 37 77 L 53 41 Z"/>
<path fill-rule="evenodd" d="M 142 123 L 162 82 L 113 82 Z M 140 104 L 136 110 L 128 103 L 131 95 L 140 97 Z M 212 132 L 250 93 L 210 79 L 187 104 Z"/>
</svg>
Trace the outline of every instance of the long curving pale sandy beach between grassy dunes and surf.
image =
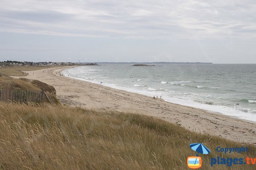
<svg viewBox="0 0 256 170">
<path fill-rule="evenodd" d="M 141 113 L 164 119 L 198 133 L 256 144 L 255 122 L 60 76 L 63 69 L 70 67 L 73 66 L 26 71 L 29 75 L 25 78 L 38 79 L 54 86 L 56 95 L 63 104 L 94 110 Z"/>
</svg>

